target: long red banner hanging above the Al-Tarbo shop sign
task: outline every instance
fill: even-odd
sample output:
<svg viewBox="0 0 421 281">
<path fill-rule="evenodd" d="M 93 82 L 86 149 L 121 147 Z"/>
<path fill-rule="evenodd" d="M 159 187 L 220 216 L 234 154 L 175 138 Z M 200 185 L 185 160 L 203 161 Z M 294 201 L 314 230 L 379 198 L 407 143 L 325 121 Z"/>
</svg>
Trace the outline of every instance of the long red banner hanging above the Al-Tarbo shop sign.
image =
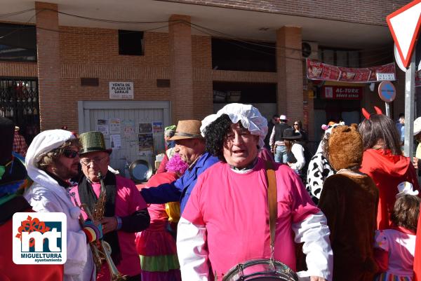
<svg viewBox="0 0 421 281">
<path fill-rule="evenodd" d="M 307 59 L 307 78 L 311 80 L 372 83 L 377 82 L 377 73 L 395 74 L 396 77 L 394 62 L 378 67 L 350 68 Z"/>
</svg>

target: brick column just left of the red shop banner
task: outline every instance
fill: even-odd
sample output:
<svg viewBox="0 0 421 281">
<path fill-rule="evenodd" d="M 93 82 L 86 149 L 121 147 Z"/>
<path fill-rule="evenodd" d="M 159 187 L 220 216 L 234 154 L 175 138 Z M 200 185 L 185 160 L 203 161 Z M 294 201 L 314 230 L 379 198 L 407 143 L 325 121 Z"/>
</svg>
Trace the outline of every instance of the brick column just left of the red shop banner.
<svg viewBox="0 0 421 281">
<path fill-rule="evenodd" d="M 281 27 L 276 31 L 276 70 L 279 114 L 290 122 L 303 119 L 301 27 Z"/>
</svg>

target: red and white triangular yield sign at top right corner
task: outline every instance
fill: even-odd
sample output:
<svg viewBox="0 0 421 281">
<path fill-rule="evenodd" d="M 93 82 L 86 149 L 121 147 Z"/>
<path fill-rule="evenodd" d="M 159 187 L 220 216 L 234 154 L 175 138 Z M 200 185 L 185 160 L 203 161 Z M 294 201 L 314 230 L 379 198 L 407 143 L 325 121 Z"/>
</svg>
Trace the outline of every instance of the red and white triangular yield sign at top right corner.
<svg viewBox="0 0 421 281">
<path fill-rule="evenodd" d="M 386 17 L 404 67 L 408 67 L 420 33 L 421 0 L 415 0 Z"/>
</svg>

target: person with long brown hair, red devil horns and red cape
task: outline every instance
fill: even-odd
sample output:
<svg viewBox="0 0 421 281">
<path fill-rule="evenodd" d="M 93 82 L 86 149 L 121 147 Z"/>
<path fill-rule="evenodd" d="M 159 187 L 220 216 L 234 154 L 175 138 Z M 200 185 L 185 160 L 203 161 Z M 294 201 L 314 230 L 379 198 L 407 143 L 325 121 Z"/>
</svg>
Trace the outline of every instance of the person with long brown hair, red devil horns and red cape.
<svg viewBox="0 0 421 281">
<path fill-rule="evenodd" d="M 402 154 L 394 122 L 379 108 L 375 110 L 376 114 L 368 114 L 363 109 L 366 119 L 359 125 L 364 147 L 360 171 L 368 174 L 379 190 L 377 229 L 387 229 L 392 225 L 390 214 L 398 193 L 396 186 L 409 181 L 415 190 L 420 190 L 420 185 L 411 159 Z"/>
</svg>

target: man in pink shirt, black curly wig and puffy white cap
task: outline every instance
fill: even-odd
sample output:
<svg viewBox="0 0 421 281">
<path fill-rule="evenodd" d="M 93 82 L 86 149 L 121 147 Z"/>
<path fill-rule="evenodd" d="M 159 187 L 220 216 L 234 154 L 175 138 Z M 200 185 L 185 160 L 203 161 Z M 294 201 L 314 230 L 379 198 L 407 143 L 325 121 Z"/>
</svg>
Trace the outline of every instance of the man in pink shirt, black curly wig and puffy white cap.
<svg viewBox="0 0 421 281">
<path fill-rule="evenodd" d="M 201 174 L 178 224 L 182 280 L 218 280 L 250 259 L 269 259 L 265 160 L 258 157 L 267 121 L 258 109 L 227 104 L 202 121 L 206 149 L 220 158 Z M 296 270 L 294 242 L 304 242 L 312 281 L 332 280 L 333 253 L 326 217 L 287 165 L 274 164 L 277 212 L 274 259 Z"/>
</svg>

